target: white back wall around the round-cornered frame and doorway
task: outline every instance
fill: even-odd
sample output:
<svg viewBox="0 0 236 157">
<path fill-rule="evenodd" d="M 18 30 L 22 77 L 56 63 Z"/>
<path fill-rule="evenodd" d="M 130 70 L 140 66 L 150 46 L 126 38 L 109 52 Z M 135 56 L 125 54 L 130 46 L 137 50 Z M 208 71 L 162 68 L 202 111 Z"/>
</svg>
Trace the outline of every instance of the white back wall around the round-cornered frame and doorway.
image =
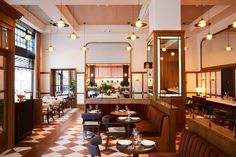
<svg viewBox="0 0 236 157">
<path fill-rule="evenodd" d="M 42 54 L 41 54 L 41 72 L 50 72 L 52 68 L 76 68 L 77 69 L 77 103 L 84 103 L 84 72 L 85 72 L 85 53 L 81 50 L 83 46 L 83 36 L 77 40 L 67 38 L 66 33 L 53 33 L 51 35 L 51 44 L 55 51 L 47 51 L 49 46 L 49 35 L 42 35 Z M 80 34 L 79 34 L 80 35 Z M 132 71 L 143 72 L 143 63 L 146 61 L 146 38 L 148 34 L 138 34 L 140 39 L 130 42 L 132 51 Z M 124 34 L 86 34 L 87 42 L 127 42 L 127 33 Z M 111 48 L 109 48 L 112 51 Z M 89 50 L 88 50 L 89 53 Z M 123 52 L 122 52 L 123 53 Z M 125 52 L 124 52 L 125 53 Z M 124 54 L 123 53 L 123 54 Z M 124 56 L 127 56 L 125 54 Z M 113 55 L 105 56 L 105 60 L 110 63 Z M 49 92 L 50 79 L 41 74 L 40 92 Z M 47 87 L 46 87 L 47 86 Z"/>
</svg>

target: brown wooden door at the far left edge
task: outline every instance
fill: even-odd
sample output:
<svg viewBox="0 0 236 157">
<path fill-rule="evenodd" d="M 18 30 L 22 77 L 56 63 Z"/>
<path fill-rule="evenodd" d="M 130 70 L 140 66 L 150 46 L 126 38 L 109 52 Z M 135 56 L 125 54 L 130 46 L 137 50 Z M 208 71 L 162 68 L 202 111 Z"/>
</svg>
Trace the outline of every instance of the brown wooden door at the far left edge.
<svg viewBox="0 0 236 157">
<path fill-rule="evenodd" d="M 7 65 L 0 52 L 0 152 L 7 149 Z"/>
</svg>

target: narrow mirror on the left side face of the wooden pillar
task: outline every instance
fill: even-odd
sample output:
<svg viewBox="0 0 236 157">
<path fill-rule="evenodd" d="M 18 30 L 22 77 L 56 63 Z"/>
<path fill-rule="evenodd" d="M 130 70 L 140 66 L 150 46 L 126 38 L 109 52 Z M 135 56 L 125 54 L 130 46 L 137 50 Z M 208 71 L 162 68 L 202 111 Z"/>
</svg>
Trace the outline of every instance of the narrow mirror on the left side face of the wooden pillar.
<svg viewBox="0 0 236 157">
<path fill-rule="evenodd" d="M 145 68 L 147 69 L 148 74 L 148 93 L 153 94 L 153 55 L 154 55 L 154 46 L 153 40 L 151 40 L 147 45 L 147 62 Z"/>
</svg>

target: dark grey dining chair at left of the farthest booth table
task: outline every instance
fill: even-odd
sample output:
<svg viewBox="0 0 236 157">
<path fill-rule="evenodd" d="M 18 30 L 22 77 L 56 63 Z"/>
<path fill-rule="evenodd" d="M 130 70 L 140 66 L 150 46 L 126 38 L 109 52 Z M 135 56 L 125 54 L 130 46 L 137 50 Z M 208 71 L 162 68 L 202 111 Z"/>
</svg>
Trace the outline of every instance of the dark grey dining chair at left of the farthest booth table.
<svg viewBox="0 0 236 157">
<path fill-rule="evenodd" d="M 83 139 L 87 137 L 87 131 L 95 133 L 97 130 L 98 134 L 100 134 L 101 114 L 82 113 L 81 117 L 83 119 Z"/>
</svg>

